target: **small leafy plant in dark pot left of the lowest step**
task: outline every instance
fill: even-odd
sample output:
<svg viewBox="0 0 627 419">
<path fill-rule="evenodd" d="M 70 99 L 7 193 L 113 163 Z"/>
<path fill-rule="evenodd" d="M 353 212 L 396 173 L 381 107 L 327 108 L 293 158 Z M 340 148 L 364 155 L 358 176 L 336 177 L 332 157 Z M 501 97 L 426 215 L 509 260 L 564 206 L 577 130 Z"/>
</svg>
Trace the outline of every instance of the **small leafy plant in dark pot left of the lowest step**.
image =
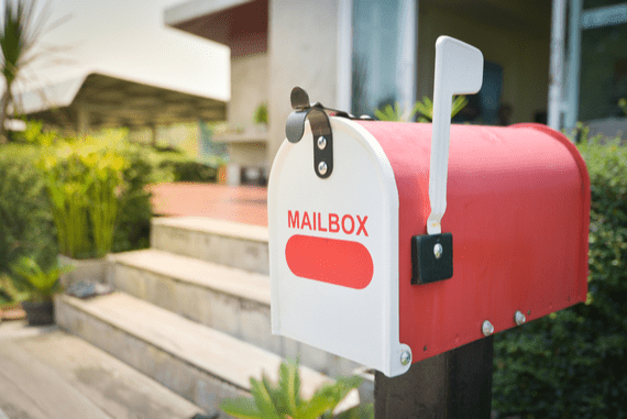
<svg viewBox="0 0 627 419">
<path fill-rule="evenodd" d="M 22 257 L 12 265 L 12 279 L 20 290 L 22 308 L 26 312 L 29 326 L 54 323 L 54 294 L 61 291 L 59 277 L 72 271 L 70 266 L 54 265 L 43 271 L 32 257 Z"/>
</svg>

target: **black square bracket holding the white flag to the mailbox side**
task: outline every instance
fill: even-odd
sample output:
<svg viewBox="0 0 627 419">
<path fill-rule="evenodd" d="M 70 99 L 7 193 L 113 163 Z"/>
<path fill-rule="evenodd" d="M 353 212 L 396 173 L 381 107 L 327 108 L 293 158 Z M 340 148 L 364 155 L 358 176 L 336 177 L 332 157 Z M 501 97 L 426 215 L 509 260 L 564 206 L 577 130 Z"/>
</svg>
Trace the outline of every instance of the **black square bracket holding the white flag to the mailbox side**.
<svg viewBox="0 0 627 419">
<path fill-rule="evenodd" d="M 453 276 L 451 233 L 411 238 L 411 284 L 430 284 Z"/>
</svg>

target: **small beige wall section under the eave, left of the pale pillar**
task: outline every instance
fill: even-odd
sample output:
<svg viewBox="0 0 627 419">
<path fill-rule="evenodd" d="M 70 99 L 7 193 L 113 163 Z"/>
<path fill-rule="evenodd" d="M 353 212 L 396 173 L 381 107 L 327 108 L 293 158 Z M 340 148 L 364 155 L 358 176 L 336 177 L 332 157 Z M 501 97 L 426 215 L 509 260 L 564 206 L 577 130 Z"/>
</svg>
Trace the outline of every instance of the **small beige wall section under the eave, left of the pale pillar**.
<svg viewBox="0 0 627 419">
<path fill-rule="evenodd" d="M 232 128 L 250 129 L 255 110 L 268 102 L 268 56 L 256 54 L 231 59 L 231 100 L 227 121 Z"/>
</svg>

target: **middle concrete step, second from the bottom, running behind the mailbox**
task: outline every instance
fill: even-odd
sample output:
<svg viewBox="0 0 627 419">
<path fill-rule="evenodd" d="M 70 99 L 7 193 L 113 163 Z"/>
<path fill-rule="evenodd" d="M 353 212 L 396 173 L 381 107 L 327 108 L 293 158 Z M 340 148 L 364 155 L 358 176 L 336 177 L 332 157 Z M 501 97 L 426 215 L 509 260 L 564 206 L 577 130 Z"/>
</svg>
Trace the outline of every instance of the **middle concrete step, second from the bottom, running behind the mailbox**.
<svg viewBox="0 0 627 419">
<path fill-rule="evenodd" d="M 158 250 L 109 255 L 109 282 L 141 298 L 328 375 L 359 364 L 271 332 L 270 278 Z"/>
</svg>

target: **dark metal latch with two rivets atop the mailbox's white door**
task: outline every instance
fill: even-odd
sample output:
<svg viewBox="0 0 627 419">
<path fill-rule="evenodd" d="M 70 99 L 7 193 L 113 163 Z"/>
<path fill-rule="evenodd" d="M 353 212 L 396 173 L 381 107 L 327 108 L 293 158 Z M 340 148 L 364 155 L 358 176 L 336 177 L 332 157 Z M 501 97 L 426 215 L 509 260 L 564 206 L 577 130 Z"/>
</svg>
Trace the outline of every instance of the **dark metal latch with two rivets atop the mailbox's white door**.
<svg viewBox="0 0 627 419">
<path fill-rule="evenodd" d="M 294 112 L 287 117 L 285 125 L 287 140 L 298 143 L 305 132 L 305 121 L 309 119 L 314 133 L 314 170 L 318 177 L 328 178 L 333 172 L 333 132 L 327 112 L 348 119 L 371 118 L 356 118 L 349 112 L 326 108 L 320 102 L 310 103 L 309 95 L 300 87 L 292 89 L 290 100 Z"/>
</svg>

